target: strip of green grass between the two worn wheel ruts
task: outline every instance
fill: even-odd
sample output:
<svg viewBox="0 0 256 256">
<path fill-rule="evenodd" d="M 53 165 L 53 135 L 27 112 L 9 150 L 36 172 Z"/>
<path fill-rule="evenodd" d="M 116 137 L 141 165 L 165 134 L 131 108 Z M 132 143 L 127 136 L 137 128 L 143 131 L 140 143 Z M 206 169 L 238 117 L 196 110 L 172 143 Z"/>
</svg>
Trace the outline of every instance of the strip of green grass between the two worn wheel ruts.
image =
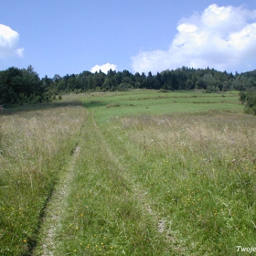
<svg viewBox="0 0 256 256">
<path fill-rule="evenodd" d="M 132 181 L 124 178 L 92 114 L 78 146 L 53 255 L 169 255 L 157 223 L 138 204 Z M 42 255 L 43 243 L 36 255 Z"/>
</svg>

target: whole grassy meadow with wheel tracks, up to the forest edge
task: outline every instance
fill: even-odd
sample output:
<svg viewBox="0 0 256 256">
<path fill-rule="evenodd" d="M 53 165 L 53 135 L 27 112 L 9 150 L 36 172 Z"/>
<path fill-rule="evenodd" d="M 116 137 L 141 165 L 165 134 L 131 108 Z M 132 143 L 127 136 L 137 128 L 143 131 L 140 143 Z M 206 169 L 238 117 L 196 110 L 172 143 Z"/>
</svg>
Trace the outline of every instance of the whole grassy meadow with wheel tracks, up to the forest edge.
<svg viewBox="0 0 256 256">
<path fill-rule="evenodd" d="M 0 255 L 246 255 L 255 117 L 238 92 L 92 92 L 0 117 Z"/>
</svg>

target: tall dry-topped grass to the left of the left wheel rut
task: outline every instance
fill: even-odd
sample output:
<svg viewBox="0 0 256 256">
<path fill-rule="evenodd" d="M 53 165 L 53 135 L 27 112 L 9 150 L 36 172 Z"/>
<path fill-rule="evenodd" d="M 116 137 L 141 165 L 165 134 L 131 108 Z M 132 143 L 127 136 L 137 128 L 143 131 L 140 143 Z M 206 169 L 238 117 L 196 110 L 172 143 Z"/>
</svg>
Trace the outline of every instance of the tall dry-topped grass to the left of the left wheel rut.
<svg viewBox="0 0 256 256">
<path fill-rule="evenodd" d="M 48 198 L 84 122 L 82 107 L 45 107 L 6 110 L 1 116 L 0 255 L 31 253 Z"/>
</svg>

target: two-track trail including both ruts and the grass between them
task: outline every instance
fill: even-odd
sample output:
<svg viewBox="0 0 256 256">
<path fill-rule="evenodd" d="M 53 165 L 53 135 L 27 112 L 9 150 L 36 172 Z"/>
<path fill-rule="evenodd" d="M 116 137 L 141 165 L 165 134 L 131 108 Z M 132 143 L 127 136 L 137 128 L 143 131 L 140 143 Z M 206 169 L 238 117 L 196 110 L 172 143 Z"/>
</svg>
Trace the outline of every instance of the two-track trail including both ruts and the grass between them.
<svg viewBox="0 0 256 256">
<path fill-rule="evenodd" d="M 170 255 L 164 221 L 112 146 L 88 111 L 34 255 Z"/>
</svg>

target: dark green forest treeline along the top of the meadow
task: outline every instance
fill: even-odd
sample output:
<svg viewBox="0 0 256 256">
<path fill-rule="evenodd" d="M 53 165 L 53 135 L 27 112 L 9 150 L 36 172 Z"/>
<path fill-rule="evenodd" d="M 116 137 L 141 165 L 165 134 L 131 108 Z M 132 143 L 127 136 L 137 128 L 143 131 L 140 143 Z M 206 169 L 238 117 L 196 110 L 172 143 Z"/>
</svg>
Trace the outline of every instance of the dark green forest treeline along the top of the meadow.
<svg viewBox="0 0 256 256">
<path fill-rule="evenodd" d="M 227 73 L 215 69 L 177 68 L 152 75 L 149 72 L 132 74 L 129 70 L 101 70 L 92 73 L 54 75 L 40 78 L 32 65 L 28 68 L 11 67 L 0 71 L 0 105 L 23 105 L 50 102 L 56 95 L 92 91 L 131 89 L 202 90 L 204 92 L 246 91 L 256 88 L 256 70 Z"/>
</svg>

